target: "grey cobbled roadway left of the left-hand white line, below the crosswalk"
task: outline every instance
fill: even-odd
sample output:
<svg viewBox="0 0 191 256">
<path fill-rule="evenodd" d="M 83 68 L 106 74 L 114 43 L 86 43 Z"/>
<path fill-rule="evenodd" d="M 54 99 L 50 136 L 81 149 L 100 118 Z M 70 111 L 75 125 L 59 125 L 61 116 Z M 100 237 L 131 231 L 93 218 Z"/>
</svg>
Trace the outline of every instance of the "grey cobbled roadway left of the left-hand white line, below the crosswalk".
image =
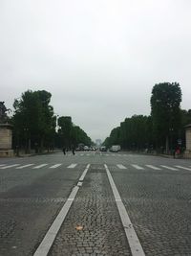
<svg viewBox="0 0 191 256">
<path fill-rule="evenodd" d="M 33 255 L 83 169 L 0 170 L 1 256 Z"/>
</svg>

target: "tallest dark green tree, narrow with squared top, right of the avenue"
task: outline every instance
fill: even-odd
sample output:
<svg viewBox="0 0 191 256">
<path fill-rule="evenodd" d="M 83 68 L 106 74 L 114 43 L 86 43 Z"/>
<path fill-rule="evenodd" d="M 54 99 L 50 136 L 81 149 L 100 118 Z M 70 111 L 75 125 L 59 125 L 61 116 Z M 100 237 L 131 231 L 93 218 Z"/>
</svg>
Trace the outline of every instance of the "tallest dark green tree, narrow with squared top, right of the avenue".
<svg viewBox="0 0 191 256">
<path fill-rule="evenodd" d="M 180 129 L 180 102 L 181 90 L 179 83 L 163 82 L 155 84 L 153 87 L 151 116 L 154 134 L 157 146 L 162 147 L 165 143 L 166 151 L 169 151 L 169 137 L 171 141 L 173 137 L 178 137 Z"/>
</svg>

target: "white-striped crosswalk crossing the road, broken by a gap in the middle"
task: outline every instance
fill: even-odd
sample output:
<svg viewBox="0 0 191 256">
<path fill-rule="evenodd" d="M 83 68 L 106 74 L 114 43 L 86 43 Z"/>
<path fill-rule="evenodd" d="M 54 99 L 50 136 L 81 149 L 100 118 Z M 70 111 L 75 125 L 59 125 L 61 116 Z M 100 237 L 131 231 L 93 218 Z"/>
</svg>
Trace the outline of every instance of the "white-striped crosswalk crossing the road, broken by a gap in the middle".
<svg viewBox="0 0 191 256">
<path fill-rule="evenodd" d="M 47 168 L 47 169 L 56 169 L 56 168 L 60 168 L 60 167 L 65 167 L 68 169 L 74 169 L 78 166 L 77 163 L 71 163 L 68 166 L 65 166 L 64 163 L 53 163 L 53 164 L 48 164 L 48 163 L 39 163 L 39 164 L 34 164 L 34 163 L 28 163 L 28 164 L 18 164 L 18 163 L 11 163 L 11 164 L 0 164 L 0 170 L 7 170 L 7 169 L 16 169 L 16 170 L 26 170 L 26 169 L 32 169 L 32 170 L 36 170 L 36 169 L 43 169 L 43 168 Z M 139 170 L 139 171 L 173 171 L 173 172 L 177 172 L 177 171 L 187 171 L 187 172 L 191 172 L 191 166 L 180 166 L 180 165 L 173 165 L 173 166 L 168 166 L 168 165 L 153 165 L 153 164 L 138 164 L 138 163 L 134 163 L 134 164 L 121 164 L 121 163 L 117 163 L 115 165 L 117 167 L 117 169 L 120 170 Z"/>
</svg>

